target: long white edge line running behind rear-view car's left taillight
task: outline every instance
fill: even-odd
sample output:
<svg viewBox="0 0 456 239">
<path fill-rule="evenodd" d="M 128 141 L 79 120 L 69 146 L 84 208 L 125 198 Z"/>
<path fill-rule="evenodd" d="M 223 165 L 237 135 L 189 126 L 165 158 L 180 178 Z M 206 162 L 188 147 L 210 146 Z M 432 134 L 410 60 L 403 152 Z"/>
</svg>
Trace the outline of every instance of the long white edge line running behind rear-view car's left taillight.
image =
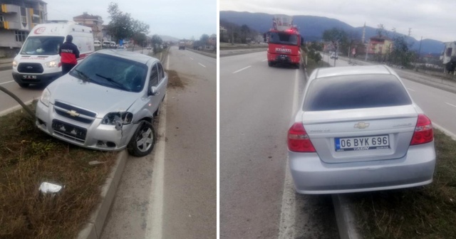
<svg viewBox="0 0 456 239">
<path fill-rule="evenodd" d="M 294 117 L 298 110 L 299 100 L 299 70 L 296 70 L 294 78 L 294 95 L 293 107 L 291 108 L 291 117 Z M 294 191 L 293 180 L 291 179 L 291 172 L 289 168 L 288 157 L 285 166 L 285 180 L 284 180 L 284 194 L 282 195 L 280 226 L 279 226 L 279 239 L 295 238 L 295 221 L 296 221 L 296 196 Z"/>
</svg>

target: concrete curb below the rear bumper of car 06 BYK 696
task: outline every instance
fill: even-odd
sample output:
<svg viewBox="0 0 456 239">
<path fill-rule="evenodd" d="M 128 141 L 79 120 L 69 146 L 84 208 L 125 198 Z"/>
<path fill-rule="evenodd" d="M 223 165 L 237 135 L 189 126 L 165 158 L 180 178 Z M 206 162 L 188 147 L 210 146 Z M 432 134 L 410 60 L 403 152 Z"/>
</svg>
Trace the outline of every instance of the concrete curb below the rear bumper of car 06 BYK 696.
<svg viewBox="0 0 456 239">
<path fill-rule="evenodd" d="M 348 198 L 344 194 L 333 194 L 334 212 L 341 239 L 361 239 Z"/>
</svg>

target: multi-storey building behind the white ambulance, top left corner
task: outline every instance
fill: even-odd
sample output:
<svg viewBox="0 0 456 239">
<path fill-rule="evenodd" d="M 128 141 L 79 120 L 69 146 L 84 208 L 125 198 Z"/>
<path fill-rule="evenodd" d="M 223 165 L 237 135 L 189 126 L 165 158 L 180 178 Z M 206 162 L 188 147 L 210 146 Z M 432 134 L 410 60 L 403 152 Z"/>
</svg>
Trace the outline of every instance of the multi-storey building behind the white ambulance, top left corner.
<svg viewBox="0 0 456 239">
<path fill-rule="evenodd" d="M 0 0 L 0 57 L 16 55 L 31 29 L 47 20 L 41 0 Z"/>
</svg>

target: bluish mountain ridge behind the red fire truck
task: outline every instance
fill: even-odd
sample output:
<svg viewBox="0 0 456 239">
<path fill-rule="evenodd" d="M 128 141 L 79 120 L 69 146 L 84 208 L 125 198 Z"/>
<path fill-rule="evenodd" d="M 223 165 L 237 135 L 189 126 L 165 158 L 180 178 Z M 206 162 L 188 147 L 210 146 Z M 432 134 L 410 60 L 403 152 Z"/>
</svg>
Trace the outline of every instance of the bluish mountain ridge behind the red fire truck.
<svg viewBox="0 0 456 239">
<path fill-rule="evenodd" d="M 246 24 L 249 28 L 264 33 L 269 31 L 272 26 L 273 14 L 249 13 L 247 11 L 220 11 L 220 20 L 236 23 L 239 26 Z M 356 34 L 361 39 L 363 35 L 363 26 L 353 27 L 334 18 L 326 18 L 323 16 L 293 16 L 293 22 L 298 26 L 301 35 L 304 36 L 304 41 L 320 41 L 323 36 L 323 31 L 333 27 L 341 28 L 348 33 Z M 392 31 L 385 31 L 390 38 L 396 35 L 405 36 Z M 377 35 L 377 28 L 366 26 L 366 39 Z M 420 41 L 415 38 L 405 36 L 408 43 L 412 43 L 412 49 L 418 51 Z M 444 45 L 441 41 L 432 39 L 423 39 L 421 43 L 421 53 L 442 53 Z"/>
</svg>

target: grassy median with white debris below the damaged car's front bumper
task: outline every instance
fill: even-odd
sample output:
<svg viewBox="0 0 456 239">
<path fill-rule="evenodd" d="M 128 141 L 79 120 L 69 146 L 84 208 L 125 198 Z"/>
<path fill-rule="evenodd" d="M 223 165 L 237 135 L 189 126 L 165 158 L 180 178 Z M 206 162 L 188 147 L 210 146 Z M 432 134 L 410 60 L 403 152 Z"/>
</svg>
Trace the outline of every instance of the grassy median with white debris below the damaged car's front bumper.
<svg viewBox="0 0 456 239">
<path fill-rule="evenodd" d="M 0 238 L 76 238 L 100 202 L 117 152 L 48 136 L 23 110 L 0 117 L 0 128 Z M 95 160 L 105 163 L 88 164 Z M 43 181 L 64 188 L 43 195 Z"/>
</svg>

